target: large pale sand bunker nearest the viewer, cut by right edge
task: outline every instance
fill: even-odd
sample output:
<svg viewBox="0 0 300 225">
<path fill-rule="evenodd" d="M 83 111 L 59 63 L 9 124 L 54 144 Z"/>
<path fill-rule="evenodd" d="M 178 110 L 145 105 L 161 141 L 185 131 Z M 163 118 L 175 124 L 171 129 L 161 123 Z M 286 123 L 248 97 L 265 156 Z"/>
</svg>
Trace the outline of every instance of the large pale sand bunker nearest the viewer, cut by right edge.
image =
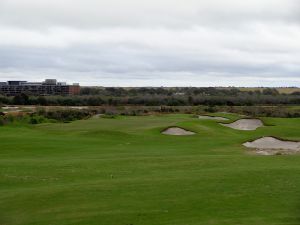
<svg viewBox="0 0 300 225">
<path fill-rule="evenodd" d="M 243 144 L 245 147 L 254 148 L 260 155 L 295 154 L 300 153 L 300 142 L 282 141 L 274 137 L 263 137 Z"/>
</svg>

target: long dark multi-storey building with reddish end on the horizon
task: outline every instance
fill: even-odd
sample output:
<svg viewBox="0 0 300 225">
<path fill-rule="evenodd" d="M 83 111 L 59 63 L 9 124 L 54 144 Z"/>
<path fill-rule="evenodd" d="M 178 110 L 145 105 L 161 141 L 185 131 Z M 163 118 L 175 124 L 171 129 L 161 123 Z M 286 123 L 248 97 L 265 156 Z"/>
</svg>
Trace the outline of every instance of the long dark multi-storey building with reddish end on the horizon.
<svg viewBox="0 0 300 225">
<path fill-rule="evenodd" d="M 57 82 L 55 79 L 46 79 L 44 82 L 7 81 L 0 82 L 0 94 L 15 96 L 21 93 L 28 95 L 77 95 L 80 85 L 68 85 Z"/>
</svg>

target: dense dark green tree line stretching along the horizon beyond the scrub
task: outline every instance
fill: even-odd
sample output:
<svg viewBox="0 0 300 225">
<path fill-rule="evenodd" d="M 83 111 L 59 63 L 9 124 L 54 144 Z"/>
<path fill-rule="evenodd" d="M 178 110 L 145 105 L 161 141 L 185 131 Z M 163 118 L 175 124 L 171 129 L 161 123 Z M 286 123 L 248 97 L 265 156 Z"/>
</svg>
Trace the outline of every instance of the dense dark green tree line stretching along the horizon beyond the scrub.
<svg viewBox="0 0 300 225">
<path fill-rule="evenodd" d="M 75 96 L 0 95 L 0 104 L 42 106 L 253 106 L 299 105 L 300 92 L 280 94 L 276 89 L 240 91 L 237 88 L 82 88 Z"/>
</svg>

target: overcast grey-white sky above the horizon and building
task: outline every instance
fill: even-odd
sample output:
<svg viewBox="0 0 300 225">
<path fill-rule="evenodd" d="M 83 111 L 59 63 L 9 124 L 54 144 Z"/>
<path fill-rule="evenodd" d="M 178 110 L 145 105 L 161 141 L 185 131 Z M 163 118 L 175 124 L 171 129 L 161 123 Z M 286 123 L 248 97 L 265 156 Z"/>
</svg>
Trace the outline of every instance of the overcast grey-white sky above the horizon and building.
<svg viewBox="0 0 300 225">
<path fill-rule="evenodd" d="M 0 81 L 300 86 L 299 0 L 0 0 Z"/>
</svg>

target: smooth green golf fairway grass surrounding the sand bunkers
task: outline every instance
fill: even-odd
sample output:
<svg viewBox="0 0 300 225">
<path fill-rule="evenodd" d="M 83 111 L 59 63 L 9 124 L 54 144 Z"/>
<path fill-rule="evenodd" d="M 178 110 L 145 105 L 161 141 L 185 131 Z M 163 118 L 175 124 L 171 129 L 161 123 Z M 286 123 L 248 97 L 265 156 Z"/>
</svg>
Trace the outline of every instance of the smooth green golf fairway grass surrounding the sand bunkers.
<svg viewBox="0 0 300 225">
<path fill-rule="evenodd" d="M 242 143 L 300 140 L 300 118 L 263 121 L 256 131 L 191 115 L 0 127 L 0 225 L 299 225 L 300 155 Z M 160 133 L 169 126 L 196 135 Z"/>
</svg>

